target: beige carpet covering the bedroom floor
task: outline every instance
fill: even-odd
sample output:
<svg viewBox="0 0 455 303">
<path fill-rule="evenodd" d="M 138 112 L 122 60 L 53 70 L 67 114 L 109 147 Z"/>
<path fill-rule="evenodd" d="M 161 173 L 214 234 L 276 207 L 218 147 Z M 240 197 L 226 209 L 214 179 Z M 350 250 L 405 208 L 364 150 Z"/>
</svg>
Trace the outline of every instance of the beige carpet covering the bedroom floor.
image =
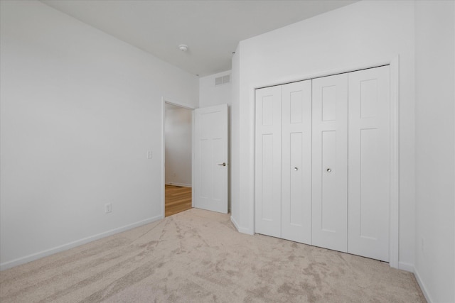
<svg viewBox="0 0 455 303">
<path fill-rule="evenodd" d="M 0 272 L 0 302 L 425 302 L 388 264 L 191 209 Z"/>
</svg>

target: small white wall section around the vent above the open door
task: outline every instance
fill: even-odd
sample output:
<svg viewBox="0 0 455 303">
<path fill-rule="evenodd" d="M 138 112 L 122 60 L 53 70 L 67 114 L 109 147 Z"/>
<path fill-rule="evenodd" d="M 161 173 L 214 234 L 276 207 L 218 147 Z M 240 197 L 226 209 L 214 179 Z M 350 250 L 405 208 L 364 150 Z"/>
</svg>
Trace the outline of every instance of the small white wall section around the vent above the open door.
<svg viewBox="0 0 455 303">
<path fill-rule="evenodd" d="M 215 78 L 230 75 L 230 70 L 218 74 L 200 77 L 199 106 L 207 107 L 220 104 L 231 104 L 232 82 L 215 86 Z"/>
</svg>

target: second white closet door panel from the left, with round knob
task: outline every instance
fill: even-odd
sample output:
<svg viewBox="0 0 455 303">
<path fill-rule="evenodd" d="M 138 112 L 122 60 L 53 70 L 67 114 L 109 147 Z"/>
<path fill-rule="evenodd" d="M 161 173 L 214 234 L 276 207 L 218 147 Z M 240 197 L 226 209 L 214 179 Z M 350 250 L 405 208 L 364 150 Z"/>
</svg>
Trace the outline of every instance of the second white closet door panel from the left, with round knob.
<svg viewBox="0 0 455 303">
<path fill-rule="evenodd" d="M 311 244 L 311 80 L 282 85 L 282 238 Z"/>
</svg>

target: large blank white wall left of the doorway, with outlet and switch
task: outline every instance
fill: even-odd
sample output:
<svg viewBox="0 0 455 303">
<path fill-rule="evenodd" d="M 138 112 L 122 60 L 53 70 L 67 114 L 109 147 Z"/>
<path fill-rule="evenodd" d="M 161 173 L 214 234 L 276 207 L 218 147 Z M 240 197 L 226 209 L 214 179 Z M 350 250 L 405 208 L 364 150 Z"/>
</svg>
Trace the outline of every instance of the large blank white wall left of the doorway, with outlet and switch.
<svg viewBox="0 0 455 303">
<path fill-rule="evenodd" d="M 161 218 L 161 97 L 198 77 L 38 1 L 0 21 L 1 268 Z"/>
</svg>

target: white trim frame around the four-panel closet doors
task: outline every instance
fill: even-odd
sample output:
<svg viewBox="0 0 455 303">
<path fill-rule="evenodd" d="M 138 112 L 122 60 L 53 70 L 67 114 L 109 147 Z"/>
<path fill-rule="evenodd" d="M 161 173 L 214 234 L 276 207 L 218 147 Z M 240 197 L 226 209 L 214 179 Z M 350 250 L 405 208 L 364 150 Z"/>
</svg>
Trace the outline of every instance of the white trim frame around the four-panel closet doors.
<svg viewBox="0 0 455 303">
<path fill-rule="evenodd" d="M 354 72 L 356 70 L 365 70 L 373 67 L 380 67 L 382 65 L 390 66 L 390 209 L 389 209 L 389 265 L 392 268 L 400 268 L 399 264 L 399 245 L 400 245 L 400 55 L 395 55 L 392 59 L 387 58 L 378 60 L 371 64 L 363 64 L 357 66 L 349 66 L 336 70 L 329 70 L 326 72 L 317 72 L 313 74 L 303 75 L 301 77 L 291 77 L 288 79 L 279 79 L 276 82 L 269 82 L 267 84 L 253 84 L 250 86 L 252 92 L 252 100 L 255 100 L 256 89 L 264 87 L 271 87 L 274 85 L 282 85 L 291 82 L 303 81 L 307 79 L 315 79 L 319 77 L 327 77 L 331 75 L 342 74 L 346 72 Z M 252 112 L 255 112 L 255 101 L 252 105 Z M 253 114 L 251 133 L 253 138 L 252 153 L 250 156 L 250 167 L 252 178 L 250 184 L 252 192 L 252 233 L 255 233 L 255 121 L 256 117 Z"/>
</svg>

